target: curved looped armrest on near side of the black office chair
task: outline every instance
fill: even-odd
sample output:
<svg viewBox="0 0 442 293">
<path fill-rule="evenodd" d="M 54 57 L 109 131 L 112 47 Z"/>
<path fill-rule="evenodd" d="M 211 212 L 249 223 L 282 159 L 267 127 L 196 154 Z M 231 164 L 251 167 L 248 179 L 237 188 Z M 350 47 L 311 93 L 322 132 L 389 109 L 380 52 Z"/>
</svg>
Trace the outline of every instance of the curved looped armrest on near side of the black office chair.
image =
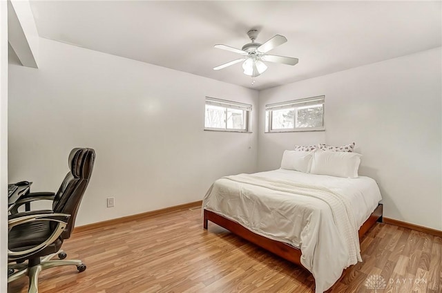
<svg viewBox="0 0 442 293">
<path fill-rule="evenodd" d="M 36 245 L 35 247 L 31 247 L 29 249 L 21 250 L 21 251 L 11 251 L 8 249 L 8 261 L 15 261 L 23 256 L 28 256 L 31 254 L 35 254 L 36 252 L 41 251 L 45 247 L 48 247 L 52 243 L 54 243 L 57 238 L 63 233 L 66 225 L 68 224 L 68 220 L 70 218 L 69 214 L 63 213 L 54 213 L 50 210 L 41 210 L 41 211 L 25 211 L 23 213 L 12 214 L 8 216 L 8 228 L 11 229 L 17 225 L 21 225 L 24 223 L 35 222 L 35 221 L 52 221 L 57 223 L 57 227 L 52 231 L 52 234 L 44 240 L 43 243 Z"/>
</svg>

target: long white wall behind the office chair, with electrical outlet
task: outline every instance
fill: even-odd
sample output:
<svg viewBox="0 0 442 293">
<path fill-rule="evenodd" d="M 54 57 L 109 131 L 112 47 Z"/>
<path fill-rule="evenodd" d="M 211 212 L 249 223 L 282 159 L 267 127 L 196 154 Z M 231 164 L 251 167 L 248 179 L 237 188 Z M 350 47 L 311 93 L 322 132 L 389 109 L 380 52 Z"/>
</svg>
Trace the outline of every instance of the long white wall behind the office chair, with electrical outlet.
<svg viewBox="0 0 442 293">
<path fill-rule="evenodd" d="M 97 152 L 77 226 L 201 200 L 257 169 L 257 111 L 252 134 L 203 131 L 206 95 L 257 109 L 257 91 L 48 39 L 39 69 L 9 73 L 10 182 L 55 191 L 70 149 Z"/>
</svg>

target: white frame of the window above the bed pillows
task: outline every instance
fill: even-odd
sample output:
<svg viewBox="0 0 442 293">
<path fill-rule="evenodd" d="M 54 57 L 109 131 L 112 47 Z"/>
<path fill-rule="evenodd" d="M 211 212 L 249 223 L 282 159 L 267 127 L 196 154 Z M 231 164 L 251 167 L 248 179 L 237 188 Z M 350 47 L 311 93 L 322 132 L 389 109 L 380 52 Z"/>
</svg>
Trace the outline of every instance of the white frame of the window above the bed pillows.
<svg viewBox="0 0 442 293">
<path fill-rule="evenodd" d="M 298 108 L 306 106 L 322 105 L 323 108 L 323 123 L 322 126 L 315 127 L 296 127 L 296 120 L 298 117 Z M 273 129 L 273 111 L 294 108 L 294 126 L 287 129 Z M 291 100 L 287 102 L 279 102 L 265 105 L 265 133 L 280 133 L 280 132 L 300 132 L 300 131 L 325 131 L 325 95 L 318 95 L 316 97 L 307 97 L 304 99 Z"/>
</svg>

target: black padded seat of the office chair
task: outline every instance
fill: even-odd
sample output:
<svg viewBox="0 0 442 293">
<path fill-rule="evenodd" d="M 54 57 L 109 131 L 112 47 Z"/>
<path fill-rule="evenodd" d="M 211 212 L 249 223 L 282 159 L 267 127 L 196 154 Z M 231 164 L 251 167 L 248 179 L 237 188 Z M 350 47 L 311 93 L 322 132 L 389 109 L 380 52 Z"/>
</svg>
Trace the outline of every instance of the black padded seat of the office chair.
<svg viewBox="0 0 442 293">
<path fill-rule="evenodd" d="M 50 221 L 36 221 L 18 225 L 9 231 L 8 247 L 12 252 L 23 251 L 44 243 L 51 234 Z M 49 252 L 57 252 L 61 243 L 63 242 L 57 239 L 53 245 L 47 247 Z"/>
</svg>

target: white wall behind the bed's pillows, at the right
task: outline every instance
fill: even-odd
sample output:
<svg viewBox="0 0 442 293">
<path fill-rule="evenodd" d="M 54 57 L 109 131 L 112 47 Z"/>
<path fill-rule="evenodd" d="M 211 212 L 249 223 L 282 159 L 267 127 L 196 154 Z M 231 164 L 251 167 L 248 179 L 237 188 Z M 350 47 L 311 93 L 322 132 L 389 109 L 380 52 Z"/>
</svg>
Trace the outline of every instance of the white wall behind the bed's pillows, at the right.
<svg viewBox="0 0 442 293">
<path fill-rule="evenodd" d="M 442 230 L 441 48 L 260 92 L 265 105 L 325 95 L 326 131 L 264 133 L 258 169 L 276 169 L 294 144 L 356 142 L 360 174 L 381 189 L 384 216 Z"/>
</svg>

